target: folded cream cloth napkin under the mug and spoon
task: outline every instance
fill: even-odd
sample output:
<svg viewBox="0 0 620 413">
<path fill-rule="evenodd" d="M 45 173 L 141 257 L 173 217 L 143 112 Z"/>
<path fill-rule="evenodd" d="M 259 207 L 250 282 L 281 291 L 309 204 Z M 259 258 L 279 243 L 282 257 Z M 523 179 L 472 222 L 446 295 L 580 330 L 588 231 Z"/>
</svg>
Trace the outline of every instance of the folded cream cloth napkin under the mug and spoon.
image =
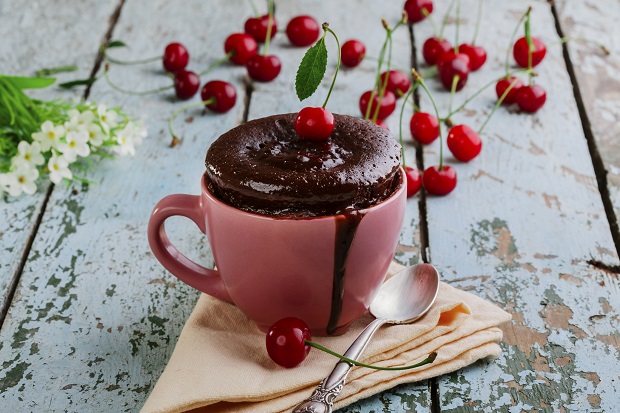
<svg viewBox="0 0 620 413">
<path fill-rule="evenodd" d="M 394 263 L 388 274 L 403 267 Z M 367 314 L 337 337 L 313 341 L 344 353 L 372 320 Z M 413 370 L 380 371 L 354 367 L 334 402 L 334 409 L 390 389 L 450 373 L 485 357 L 497 357 L 499 324 L 510 315 L 495 305 L 440 284 L 437 301 L 413 324 L 385 325 L 374 335 L 360 361 L 403 366 L 425 359 Z M 142 413 L 290 412 L 332 370 L 337 358 L 312 349 L 297 367 L 276 365 L 267 355 L 265 333 L 235 306 L 202 295 L 185 324 L 172 357 Z"/>
</svg>

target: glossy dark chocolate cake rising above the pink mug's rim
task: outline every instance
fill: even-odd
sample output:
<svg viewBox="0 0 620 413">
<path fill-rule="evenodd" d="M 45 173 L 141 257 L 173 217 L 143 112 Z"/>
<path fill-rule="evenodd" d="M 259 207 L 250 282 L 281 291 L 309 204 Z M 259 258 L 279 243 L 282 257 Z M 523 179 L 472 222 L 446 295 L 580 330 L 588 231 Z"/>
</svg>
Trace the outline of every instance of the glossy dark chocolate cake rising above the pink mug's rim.
<svg viewBox="0 0 620 413">
<path fill-rule="evenodd" d="M 334 115 L 330 138 L 315 142 L 297 135 L 295 116 L 253 120 L 220 136 L 205 161 L 213 194 L 242 210 L 300 217 L 363 209 L 392 194 L 400 145 L 388 131 Z"/>
</svg>

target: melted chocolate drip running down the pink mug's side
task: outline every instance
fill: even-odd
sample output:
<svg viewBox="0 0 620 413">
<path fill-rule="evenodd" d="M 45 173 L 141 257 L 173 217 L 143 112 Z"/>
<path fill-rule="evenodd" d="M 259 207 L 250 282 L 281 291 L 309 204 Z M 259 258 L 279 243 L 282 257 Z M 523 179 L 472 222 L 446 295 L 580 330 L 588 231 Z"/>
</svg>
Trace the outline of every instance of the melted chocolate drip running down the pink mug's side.
<svg viewBox="0 0 620 413">
<path fill-rule="evenodd" d="M 342 313 L 342 299 L 344 297 L 344 273 L 347 268 L 347 258 L 357 227 L 364 212 L 354 210 L 336 217 L 336 242 L 334 245 L 334 278 L 332 284 L 332 307 L 327 323 L 327 334 L 334 334 L 338 328 Z"/>
</svg>

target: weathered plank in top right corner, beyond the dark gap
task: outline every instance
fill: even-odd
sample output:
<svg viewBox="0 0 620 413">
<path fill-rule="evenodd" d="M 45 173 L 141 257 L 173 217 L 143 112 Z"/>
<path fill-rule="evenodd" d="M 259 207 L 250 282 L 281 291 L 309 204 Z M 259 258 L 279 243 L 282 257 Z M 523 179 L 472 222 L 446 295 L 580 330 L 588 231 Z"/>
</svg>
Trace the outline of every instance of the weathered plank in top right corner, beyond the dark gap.
<svg viewBox="0 0 620 413">
<path fill-rule="evenodd" d="M 618 2 L 556 1 L 561 29 L 568 40 L 567 49 L 581 99 L 604 163 L 608 190 L 616 219 L 620 216 L 620 7 Z M 601 30 L 604 27 L 605 30 Z M 605 55 L 598 45 L 606 47 Z M 615 85 L 615 87 L 614 87 Z M 617 227 L 615 228 L 617 231 Z M 616 240 L 616 243 L 618 241 Z M 607 263 L 610 264 L 610 263 Z M 614 263 L 611 263 L 614 264 Z"/>
</svg>

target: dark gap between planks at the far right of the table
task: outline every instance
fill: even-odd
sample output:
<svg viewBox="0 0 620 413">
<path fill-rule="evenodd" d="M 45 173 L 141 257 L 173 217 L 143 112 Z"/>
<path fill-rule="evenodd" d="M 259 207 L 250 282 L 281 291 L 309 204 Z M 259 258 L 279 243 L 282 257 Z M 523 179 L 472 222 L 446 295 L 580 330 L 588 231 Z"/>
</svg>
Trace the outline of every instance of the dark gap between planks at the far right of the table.
<svg viewBox="0 0 620 413">
<path fill-rule="evenodd" d="M 553 19 L 555 21 L 555 29 L 558 33 L 558 36 L 560 38 L 564 38 L 564 31 L 562 30 L 562 25 L 560 24 L 560 16 L 558 15 L 558 11 L 555 7 L 554 1 L 548 0 L 548 3 L 551 8 L 551 13 L 553 14 Z M 571 84 L 573 85 L 573 94 L 575 96 L 575 101 L 577 103 L 577 109 L 579 111 L 579 118 L 581 119 L 581 126 L 583 128 L 583 133 L 588 143 L 588 150 L 590 152 L 590 158 L 592 159 L 592 165 L 594 166 L 596 182 L 598 184 L 599 193 L 601 194 L 601 199 L 603 201 L 603 207 L 605 208 L 605 214 L 607 215 L 607 221 L 609 223 L 609 229 L 611 231 L 611 236 L 614 241 L 614 245 L 616 247 L 616 253 L 618 254 L 618 256 L 620 256 L 620 229 L 618 228 L 618 218 L 616 217 L 613 203 L 611 201 L 611 196 L 609 194 L 609 187 L 608 187 L 608 181 L 607 181 L 607 169 L 605 168 L 605 163 L 603 162 L 603 158 L 601 157 L 600 151 L 598 149 L 598 145 L 596 144 L 594 133 L 592 132 L 592 126 L 590 123 L 590 119 L 588 117 L 588 113 L 586 111 L 583 97 L 581 95 L 581 89 L 579 88 L 579 82 L 577 81 L 577 75 L 575 74 L 575 68 L 571 61 L 570 54 L 568 53 L 567 42 L 562 43 L 562 55 L 564 57 L 564 62 L 566 63 L 566 69 L 568 71 L 568 76 L 570 78 Z M 595 266 L 600 267 L 600 264 L 595 265 Z M 619 268 L 619 266 L 617 265 L 616 266 L 605 265 L 605 266 L 607 268 Z"/>
</svg>

